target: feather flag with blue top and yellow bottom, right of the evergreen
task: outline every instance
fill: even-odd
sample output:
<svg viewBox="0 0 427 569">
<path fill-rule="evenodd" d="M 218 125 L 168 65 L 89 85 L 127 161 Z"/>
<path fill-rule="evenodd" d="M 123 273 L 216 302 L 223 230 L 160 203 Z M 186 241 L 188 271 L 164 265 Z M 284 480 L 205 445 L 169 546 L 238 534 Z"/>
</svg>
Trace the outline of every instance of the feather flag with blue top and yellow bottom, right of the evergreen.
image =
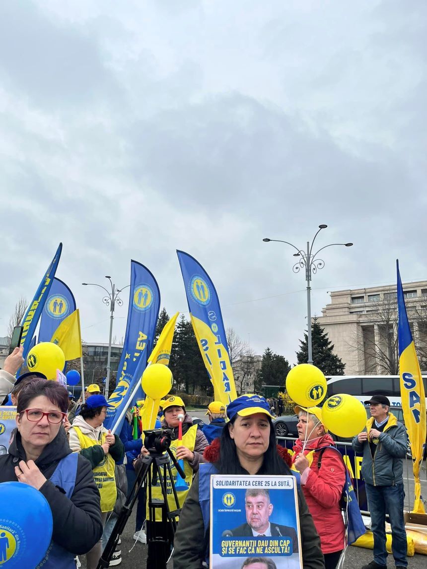
<svg viewBox="0 0 427 569">
<path fill-rule="evenodd" d="M 228 405 L 236 399 L 237 393 L 218 295 L 202 265 L 184 251 L 176 253 L 186 288 L 191 323 L 213 385 L 213 397 L 215 401 Z"/>
</svg>

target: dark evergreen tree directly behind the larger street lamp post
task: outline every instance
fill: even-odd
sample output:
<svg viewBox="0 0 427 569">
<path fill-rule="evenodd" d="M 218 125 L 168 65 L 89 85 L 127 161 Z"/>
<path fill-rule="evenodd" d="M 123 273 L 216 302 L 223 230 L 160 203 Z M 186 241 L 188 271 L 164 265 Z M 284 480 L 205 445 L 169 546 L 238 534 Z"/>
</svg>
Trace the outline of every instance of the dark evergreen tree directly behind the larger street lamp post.
<svg viewBox="0 0 427 569">
<path fill-rule="evenodd" d="M 306 364 L 309 358 L 307 332 L 304 339 L 299 340 L 301 344 L 297 352 L 298 364 Z M 313 364 L 317 366 L 325 376 L 343 376 L 344 367 L 341 359 L 334 354 L 334 344 L 331 343 L 325 329 L 321 327 L 317 319 L 314 318 L 311 324 L 311 351 L 313 352 Z"/>
</svg>

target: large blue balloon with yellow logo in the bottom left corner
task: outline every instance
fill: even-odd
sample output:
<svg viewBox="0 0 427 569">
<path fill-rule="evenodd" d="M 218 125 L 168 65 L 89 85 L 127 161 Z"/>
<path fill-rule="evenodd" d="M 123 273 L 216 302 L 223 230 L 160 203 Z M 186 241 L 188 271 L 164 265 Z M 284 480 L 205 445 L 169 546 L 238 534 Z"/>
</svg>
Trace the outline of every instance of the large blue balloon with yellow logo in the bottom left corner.
<svg viewBox="0 0 427 569">
<path fill-rule="evenodd" d="M 38 566 L 52 539 L 52 512 L 46 498 L 22 482 L 3 482 L 0 504 L 2 569 Z"/>
</svg>

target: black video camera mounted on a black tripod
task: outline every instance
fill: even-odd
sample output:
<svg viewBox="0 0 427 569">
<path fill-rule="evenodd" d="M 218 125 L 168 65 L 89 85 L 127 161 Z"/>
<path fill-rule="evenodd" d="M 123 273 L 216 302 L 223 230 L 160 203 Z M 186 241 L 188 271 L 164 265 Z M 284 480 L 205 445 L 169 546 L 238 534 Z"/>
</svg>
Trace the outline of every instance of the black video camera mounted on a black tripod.
<svg viewBox="0 0 427 569">
<path fill-rule="evenodd" d="M 129 497 L 126 499 L 124 506 L 122 506 L 116 525 L 114 526 L 105 549 L 102 551 L 100 560 L 98 561 L 97 569 L 104 569 L 109 566 L 109 562 L 114 553 L 114 549 L 116 549 L 118 539 L 125 529 L 126 522 L 128 521 L 130 514 L 132 514 L 132 509 L 137 500 L 139 489 L 143 483 L 146 484 L 146 488 L 148 490 L 148 558 L 154 560 L 154 563 L 150 563 L 150 569 L 166 569 L 167 557 L 165 557 L 165 552 L 168 550 L 170 543 L 168 535 L 175 535 L 176 524 L 178 523 L 176 518 L 179 517 L 179 514 L 181 513 L 178 494 L 176 494 L 175 483 L 171 471 L 170 460 L 173 462 L 174 467 L 180 476 L 184 478 L 185 474 L 176 461 L 173 453 L 170 451 L 170 431 L 169 433 L 166 430 L 144 431 L 144 434 L 146 435 L 144 444 L 149 451 L 149 455 L 142 458 L 142 468 L 138 472 Z M 166 451 L 166 453 L 164 451 Z M 174 510 L 170 510 L 169 502 L 167 501 L 166 483 L 168 476 L 175 498 L 176 509 Z M 157 479 L 159 480 L 160 487 L 162 489 L 163 500 L 157 500 L 151 497 L 151 484 L 156 484 Z M 162 521 L 157 523 L 155 522 L 156 510 L 161 510 L 162 512 Z"/>
</svg>

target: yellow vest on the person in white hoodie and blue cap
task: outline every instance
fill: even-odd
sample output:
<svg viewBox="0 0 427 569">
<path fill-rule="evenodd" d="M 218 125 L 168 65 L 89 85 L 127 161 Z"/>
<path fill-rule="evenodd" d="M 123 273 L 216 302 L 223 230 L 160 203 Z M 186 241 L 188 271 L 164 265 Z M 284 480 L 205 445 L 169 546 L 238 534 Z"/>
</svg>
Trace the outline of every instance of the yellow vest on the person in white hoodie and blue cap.
<svg viewBox="0 0 427 569">
<path fill-rule="evenodd" d="M 80 447 L 89 448 L 96 444 L 105 443 L 105 433 L 101 434 L 99 440 L 93 440 L 84 435 L 79 427 L 73 426 L 79 437 Z M 116 504 L 117 489 L 116 478 L 114 477 L 114 467 L 116 463 L 110 453 L 106 454 L 104 460 L 96 468 L 93 468 L 93 480 L 101 495 L 101 512 L 111 512 Z"/>
</svg>

